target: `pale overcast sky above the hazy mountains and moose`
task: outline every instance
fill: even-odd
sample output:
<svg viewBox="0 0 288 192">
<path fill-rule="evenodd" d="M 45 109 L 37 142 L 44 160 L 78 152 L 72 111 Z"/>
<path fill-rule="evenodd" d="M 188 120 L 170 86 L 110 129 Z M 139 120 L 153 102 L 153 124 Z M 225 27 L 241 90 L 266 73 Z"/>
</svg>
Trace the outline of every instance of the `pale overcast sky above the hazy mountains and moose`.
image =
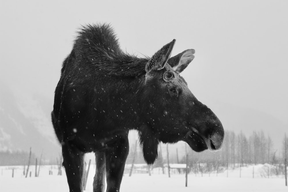
<svg viewBox="0 0 288 192">
<path fill-rule="evenodd" d="M 108 22 L 121 47 L 152 56 L 196 50 L 182 76 L 203 103 L 263 111 L 288 123 L 288 1 L 6 1 L 0 80 L 53 99 L 76 28 Z M 52 106 L 51 106 L 52 110 Z"/>
</svg>

